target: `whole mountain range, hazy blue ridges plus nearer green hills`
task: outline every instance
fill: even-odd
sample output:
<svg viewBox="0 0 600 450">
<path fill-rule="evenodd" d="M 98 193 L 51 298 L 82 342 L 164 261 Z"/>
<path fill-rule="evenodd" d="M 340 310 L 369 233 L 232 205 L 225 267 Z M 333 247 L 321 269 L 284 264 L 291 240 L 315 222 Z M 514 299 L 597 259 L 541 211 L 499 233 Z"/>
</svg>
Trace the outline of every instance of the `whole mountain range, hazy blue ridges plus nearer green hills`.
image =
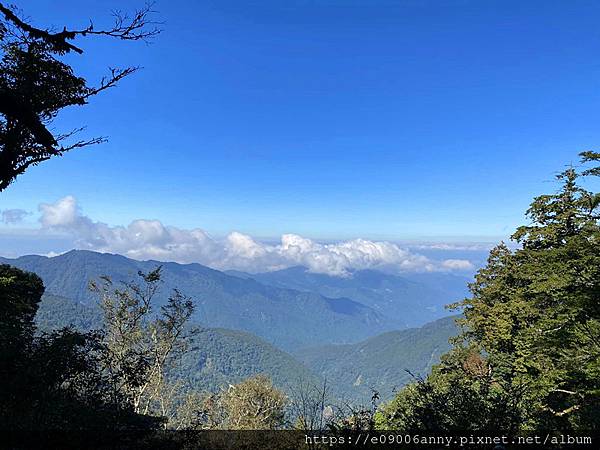
<svg viewBox="0 0 600 450">
<path fill-rule="evenodd" d="M 36 317 L 41 330 L 100 327 L 89 281 L 102 275 L 131 280 L 138 271 L 161 265 L 163 286 L 156 304 L 178 288 L 195 300 L 192 319 L 201 330 L 177 377 L 203 390 L 256 373 L 267 373 L 283 388 L 295 380 L 327 379 L 338 398 L 360 402 L 372 389 L 390 398 L 410 380 L 407 370 L 427 373 L 449 348 L 456 328 L 451 318 L 425 323 L 447 315 L 443 305 L 466 293 L 466 279 L 449 274 L 401 277 L 365 270 L 340 278 L 303 267 L 224 273 L 199 264 L 80 250 L 0 258 L 0 263 L 43 279 L 46 294 Z"/>
</svg>

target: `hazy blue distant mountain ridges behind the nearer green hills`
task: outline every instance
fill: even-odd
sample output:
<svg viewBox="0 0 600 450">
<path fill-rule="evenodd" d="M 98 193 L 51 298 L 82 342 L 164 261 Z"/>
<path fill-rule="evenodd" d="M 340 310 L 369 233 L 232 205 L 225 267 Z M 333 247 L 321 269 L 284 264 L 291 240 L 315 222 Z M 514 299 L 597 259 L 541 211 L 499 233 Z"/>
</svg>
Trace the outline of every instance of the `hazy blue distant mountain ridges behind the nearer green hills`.
<svg viewBox="0 0 600 450">
<path fill-rule="evenodd" d="M 83 305 L 97 302 L 88 289 L 90 280 L 107 275 L 113 281 L 127 281 L 140 270 L 148 272 L 161 265 L 158 304 L 177 288 L 194 299 L 194 322 L 247 331 L 287 351 L 353 343 L 385 331 L 421 326 L 448 315 L 443 305 L 463 297 L 466 286 L 466 279 L 452 275 L 433 275 L 456 285 L 440 289 L 376 271 L 340 278 L 296 267 L 250 275 L 82 250 L 55 257 L 0 258 L 0 263 L 37 273 L 47 294 Z"/>
</svg>

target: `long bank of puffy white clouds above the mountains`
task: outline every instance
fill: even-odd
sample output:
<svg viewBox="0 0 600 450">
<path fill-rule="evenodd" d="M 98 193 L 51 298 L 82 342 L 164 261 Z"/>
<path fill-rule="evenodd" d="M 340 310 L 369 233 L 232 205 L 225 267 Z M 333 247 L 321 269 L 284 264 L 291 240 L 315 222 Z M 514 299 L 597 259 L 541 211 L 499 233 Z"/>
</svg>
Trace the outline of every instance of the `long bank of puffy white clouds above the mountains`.
<svg viewBox="0 0 600 450">
<path fill-rule="evenodd" d="M 206 231 L 167 226 L 158 220 L 134 220 L 127 226 L 110 226 L 85 216 L 77 200 L 64 197 L 41 204 L 43 232 L 71 236 L 80 249 L 118 253 L 134 259 L 197 262 L 216 269 L 264 272 L 302 265 L 310 271 L 347 276 L 352 270 L 390 272 L 465 271 L 468 260 L 433 261 L 385 241 L 353 239 L 322 244 L 296 234 L 284 234 L 277 244 L 266 244 L 239 232 L 214 239 Z"/>
</svg>

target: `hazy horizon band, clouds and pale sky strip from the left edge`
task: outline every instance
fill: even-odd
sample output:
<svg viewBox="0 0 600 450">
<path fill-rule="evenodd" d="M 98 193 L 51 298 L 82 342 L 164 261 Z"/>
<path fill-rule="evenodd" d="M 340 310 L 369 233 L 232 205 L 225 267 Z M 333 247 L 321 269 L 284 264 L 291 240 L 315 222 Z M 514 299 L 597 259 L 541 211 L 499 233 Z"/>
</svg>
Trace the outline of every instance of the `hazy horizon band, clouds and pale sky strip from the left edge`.
<svg viewBox="0 0 600 450">
<path fill-rule="evenodd" d="M 121 254 L 133 259 L 201 263 L 221 270 L 250 272 L 302 265 L 317 273 L 351 270 L 472 273 L 497 242 L 387 241 L 363 238 L 318 240 L 297 234 L 260 239 L 232 231 L 212 236 L 201 228 L 181 229 L 138 219 L 111 226 L 85 215 L 74 197 L 25 210 L 0 212 L 0 256 L 57 255 L 71 249 Z"/>
</svg>

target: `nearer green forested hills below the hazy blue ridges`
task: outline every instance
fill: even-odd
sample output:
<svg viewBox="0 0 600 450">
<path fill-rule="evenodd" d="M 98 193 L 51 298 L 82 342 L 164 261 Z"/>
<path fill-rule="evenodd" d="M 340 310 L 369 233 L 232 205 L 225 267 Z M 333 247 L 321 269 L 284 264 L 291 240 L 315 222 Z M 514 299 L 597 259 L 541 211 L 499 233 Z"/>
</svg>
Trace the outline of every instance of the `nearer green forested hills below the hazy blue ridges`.
<svg viewBox="0 0 600 450">
<path fill-rule="evenodd" d="M 45 331 L 67 325 L 88 330 L 99 328 L 103 320 L 95 305 L 46 294 L 36 322 Z M 217 392 L 264 373 L 288 393 L 301 381 L 320 385 L 323 377 L 332 397 L 368 403 L 372 389 L 387 400 L 410 382 L 407 369 L 428 373 L 457 332 L 454 318 L 440 319 L 422 328 L 384 333 L 357 344 L 311 347 L 292 356 L 244 331 L 199 327 L 170 377 L 201 392 Z"/>
</svg>

